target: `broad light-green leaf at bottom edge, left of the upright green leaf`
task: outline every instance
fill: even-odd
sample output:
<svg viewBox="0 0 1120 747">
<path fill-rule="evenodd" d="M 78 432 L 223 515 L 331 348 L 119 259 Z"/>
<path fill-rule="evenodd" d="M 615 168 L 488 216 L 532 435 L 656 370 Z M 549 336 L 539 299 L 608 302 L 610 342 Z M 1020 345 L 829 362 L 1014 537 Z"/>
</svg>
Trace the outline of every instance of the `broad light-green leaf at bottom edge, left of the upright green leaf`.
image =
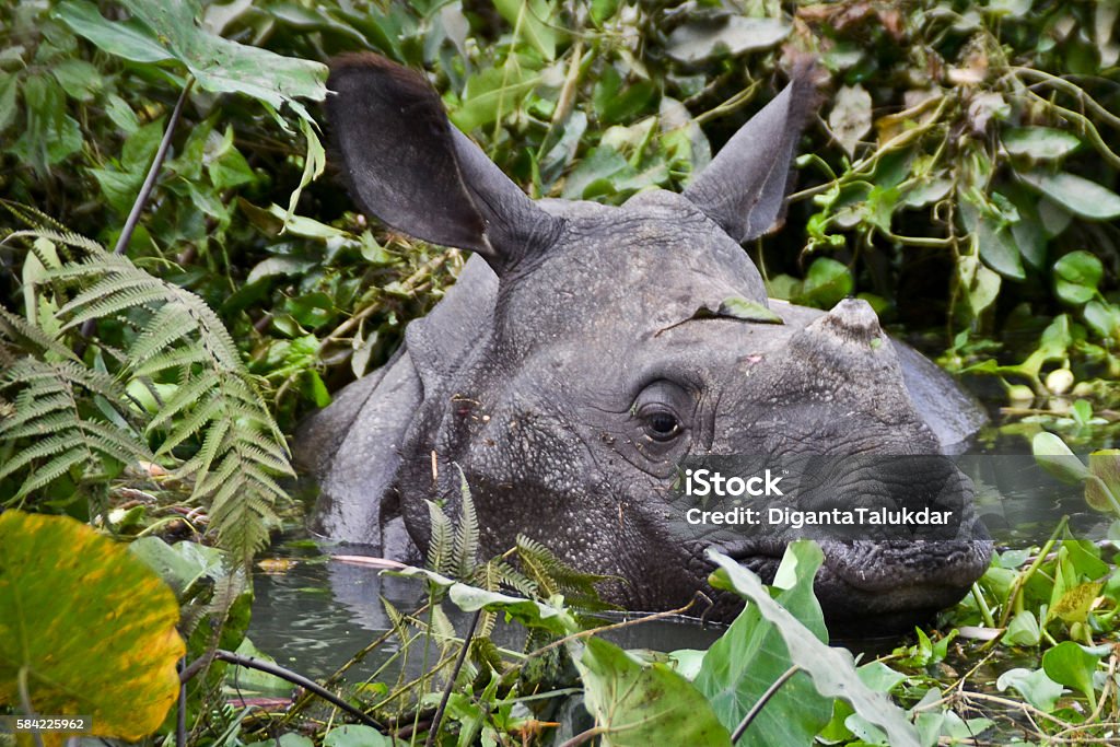
<svg viewBox="0 0 1120 747">
<path fill-rule="evenodd" d="M 730 747 L 730 732 L 704 697 L 666 664 L 637 662 L 601 638 L 589 638 L 572 659 L 604 745 Z"/>
</svg>

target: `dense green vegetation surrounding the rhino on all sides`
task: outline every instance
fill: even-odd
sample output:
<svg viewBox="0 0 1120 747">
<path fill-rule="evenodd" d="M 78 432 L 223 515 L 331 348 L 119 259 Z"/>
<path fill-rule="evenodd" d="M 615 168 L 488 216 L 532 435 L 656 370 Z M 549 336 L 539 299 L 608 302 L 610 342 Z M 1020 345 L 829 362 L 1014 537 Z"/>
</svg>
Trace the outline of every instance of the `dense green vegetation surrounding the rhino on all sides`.
<svg viewBox="0 0 1120 747">
<path fill-rule="evenodd" d="M 1009 405 L 1008 429 L 1085 482 L 1093 507 L 1120 515 L 1116 454 L 1085 466 L 1051 456 L 1065 447 L 1040 433 L 1084 451 L 1110 446 L 1117 420 L 1118 16 L 1114 2 L 1047 0 L 3 6 L 0 708 L 75 708 L 41 687 L 50 674 L 100 683 L 78 710 L 101 734 L 174 738 L 176 709 L 165 713 L 185 647 L 179 739 L 390 744 L 383 731 L 416 741 L 436 723 L 440 744 L 514 744 L 551 739 L 567 656 L 599 725 L 572 744 L 728 744 L 736 731 L 738 744 L 934 744 L 1008 716 L 1033 740 L 1114 738 L 1114 548 L 1064 524 L 1042 548 L 1000 553 L 941 633 L 857 679 L 814 647 L 825 633 L 810 545 L 787 557 L 787 611 L 727 569 L 719 582 L 754 600 L 748 614 L 708 654 L 651 663 L 578 633 L 590 623 L 572 605 L 592 601 L 594 578 L 528 542 L 480 563 L 464 515 L 440 524 L 431 570 L 407 571 L 426 578 L 429 604 L 392 610 L 394 629 L 373 642 L 435 646 L 418 680 L 339 678 L 328 684 L 349 708 L 334 716 L 308 697 L 286 715 L 237 710 L 222 687 L 249 676 L 227 663 L 251 651 L 251 561 L 300 515 L 284 437 L 384 362 L 463 264 L 354 212 L 319 129 L 330 56 L 370 49 L 428 71 L 454 122 L 533 196 L 617 203 L 687 184 L 792 60 L 814 55 L 823 105 L 786 226 L 747 248 L 772 295 L 824 308 L 867 298 Z M 67 576 L 55 561 L 75 543 L 96 550 Z M 75 580 L 88 575 L 97 582 Z M 17 598 L 47 581 L 49 594 Z M 82 594 L 105 601 L 56 626 L 52 605 Z M 486 611 L 456 631 L 447 601 Z M 489 641 L 496 611 L 531 631 L 521 654 Z M 134 638 L 91 641 L 122 614 L 137 617 Z M 964 647 L 952 631 L 971 636 Z M 73 651 L 62 641 L 88 651 L 59 664 Z M 122 646 L 150 659 L 124 661 Z M 1024 652 L 1024 666 L 978 680 L 992 657 Z M 949 669 L 954 655 L 970 671 Z M 105 683 L 151 688 L 156 706 L 122 721 L 114 708 L 137 695 Z M 651 709 L 655 690 L 691 718 Z M 366 726 L 336 728 L 344 713 Z"/>
</svg>

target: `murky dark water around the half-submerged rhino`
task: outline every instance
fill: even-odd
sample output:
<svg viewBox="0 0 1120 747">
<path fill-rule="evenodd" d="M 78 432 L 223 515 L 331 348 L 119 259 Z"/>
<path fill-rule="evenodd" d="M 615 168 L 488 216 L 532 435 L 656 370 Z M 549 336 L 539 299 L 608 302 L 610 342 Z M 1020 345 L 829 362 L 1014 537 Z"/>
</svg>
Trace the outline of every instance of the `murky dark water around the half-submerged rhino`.
<svg viewBox="0 0 1120 747">
<path fill-rule="evenodd" d="M 1033 465 L 1026 439 L 997 437 L 992 430 L 981 442 L 988 456 L 962 469 L 977 483 L 979 511 L 999 544 L 1038 543 L 1063 514 L 1072 516 L 1071 525 L 1079 535 L 1103 536 L 1108 522 L 1086 510 L 1080 487 L 1062 486 Z M 256 575 L 250 636 L 278 663 L 321 678 L 389 629 L 382 596 L 398 609 L 410 611 L 423 604 L 426 595 L 419 581 L 381 577 L 376 569 L 330 561 L 314 543 L 300 539 L 277 543 L 272 572 Z M 452 622 L 460 634 L 466 629 L 465 618 L 452 616 Z M 616 642 L 656 651 L 706 648 L 719 633 L 718 626 L 655 620 L 625 629 Z M 883 641 L 844 643 L 869 654 L 890 647 L 890 642 Z M 368 676 L 392 651 L 391 645 L 379 647 L 351 671 L 349 679 Z"/>
</svg>

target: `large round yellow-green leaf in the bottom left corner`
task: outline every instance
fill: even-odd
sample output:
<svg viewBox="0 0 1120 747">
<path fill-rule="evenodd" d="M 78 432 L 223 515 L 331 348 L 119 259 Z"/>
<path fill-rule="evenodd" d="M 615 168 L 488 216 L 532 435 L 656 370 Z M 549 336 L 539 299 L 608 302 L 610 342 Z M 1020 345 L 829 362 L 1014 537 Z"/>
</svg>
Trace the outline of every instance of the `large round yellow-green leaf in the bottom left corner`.
<svg viewBox="0 0 1120 747">
<path fill-rule="evenodd" d="M 0 515 L 0 706 L 25 672 L 38 713 L 139 740 L 179 691 L 179 605 L 128 547 L 66 516 Z"/>
</svg>

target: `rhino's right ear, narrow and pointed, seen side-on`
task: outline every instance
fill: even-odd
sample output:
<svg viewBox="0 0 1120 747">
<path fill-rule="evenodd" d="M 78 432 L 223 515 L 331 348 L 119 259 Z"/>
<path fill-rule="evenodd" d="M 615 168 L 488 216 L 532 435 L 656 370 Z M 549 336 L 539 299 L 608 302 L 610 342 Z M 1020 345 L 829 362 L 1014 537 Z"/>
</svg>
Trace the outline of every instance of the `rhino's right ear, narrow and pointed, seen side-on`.
<svg viewBox="0 0 1120 747">
<path fill-rule="evenodd" d="M 756 239 L 785 215 L 790 169 L 801 129 L 816 108 L 813 66 L 793 80 L 724 146 L 684 196 L 738 242 Z"/>
</svg>

